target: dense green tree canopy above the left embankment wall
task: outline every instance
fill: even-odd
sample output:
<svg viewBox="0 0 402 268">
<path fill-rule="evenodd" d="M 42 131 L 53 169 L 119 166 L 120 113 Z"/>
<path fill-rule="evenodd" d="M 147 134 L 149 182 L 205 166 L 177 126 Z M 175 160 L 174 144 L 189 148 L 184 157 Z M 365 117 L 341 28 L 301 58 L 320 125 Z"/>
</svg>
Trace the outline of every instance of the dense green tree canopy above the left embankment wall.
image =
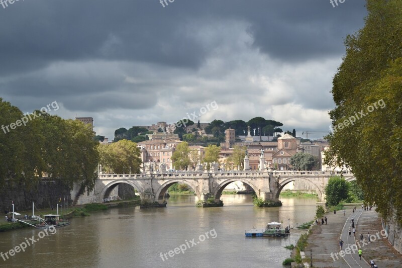
<svg viewBox="0 0 402 268">
<path fill-rule="evenodd" d="M 72 189 L 74 183 L 91 190 L 97 177 L 98 142 L 89 125 L 41 111 L 36 117 L 0 98 L 0 125 L 26 123 L 0 131 L 0 185 L 5 181 L 35 185 L 45 175 Z"/>
</svg>

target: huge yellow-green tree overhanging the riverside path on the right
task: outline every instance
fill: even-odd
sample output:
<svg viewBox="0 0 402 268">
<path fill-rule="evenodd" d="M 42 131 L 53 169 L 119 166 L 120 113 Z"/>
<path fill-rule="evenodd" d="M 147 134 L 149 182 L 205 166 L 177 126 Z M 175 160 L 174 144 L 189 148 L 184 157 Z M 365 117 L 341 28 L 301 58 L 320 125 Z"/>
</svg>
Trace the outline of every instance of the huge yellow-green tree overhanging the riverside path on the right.
<svg viewBox="0 0 402 268">
<path fill-rule="evenodd" d="M 365 201 L 402 223 L 402 192 L 395 191 L 402 188 L 402 1 L 367 0 L 366 6 L 365 26 L 347 36 L 334 76 L 326 161 L 348 163 Z"/>
</svg>

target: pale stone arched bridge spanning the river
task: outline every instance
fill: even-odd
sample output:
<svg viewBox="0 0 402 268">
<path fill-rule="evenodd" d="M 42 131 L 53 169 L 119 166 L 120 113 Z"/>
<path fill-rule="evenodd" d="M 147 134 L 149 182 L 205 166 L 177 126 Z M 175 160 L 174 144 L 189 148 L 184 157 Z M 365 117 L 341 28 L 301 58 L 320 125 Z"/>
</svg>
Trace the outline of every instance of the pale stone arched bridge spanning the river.
<svg viewBox="0 0 402 268">
<path fill-rule="evenodd" d="M 186 184 L 192 188 L 198 200 L 214 198 L 219 202 L 222 191 L 233 182 L 250 186 L 264 201 L 278 201 L 283 187 L 290 182 L 303 180 L 317 192 L 320 202 L 325 201 L 324 189 L 331 176 L 342 175 L 350 182 L 356 180 L 352 173 L 331 171 L 219 171 L 219 172 L 164 172 L 142 174 L 100 174 L 94 194 L 99 203 L 108 198 L 111 191 L 120 184 L 131 185 L 150 202 L 163 200 L 167 189 L 174 183 Z"/>
</svg>

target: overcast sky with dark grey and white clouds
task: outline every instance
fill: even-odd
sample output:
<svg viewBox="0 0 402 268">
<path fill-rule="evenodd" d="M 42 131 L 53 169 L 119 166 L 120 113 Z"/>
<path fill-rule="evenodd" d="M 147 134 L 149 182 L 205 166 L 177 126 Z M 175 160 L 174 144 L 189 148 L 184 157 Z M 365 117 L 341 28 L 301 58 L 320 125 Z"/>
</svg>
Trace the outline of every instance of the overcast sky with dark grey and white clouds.
<svg viewBox="0 0 402 268">
<path fill-rule="evenodd" d="M 5 0 L 3 0 L 5 1 Z M 171 0 L 170 0 L 171 1 Z M 98 135 L 194 121 L 280 121 L 328 131 L 332 78 L 364 0 L 26 0 L 0 6 L 0 97 L 56 101 Z M 211 106 L 210 106 L 211 107 Z M 202 110 L 204 112 L 205 110 Z M 324 134 L 311 135 L 321 137 Z"/>
</svg>

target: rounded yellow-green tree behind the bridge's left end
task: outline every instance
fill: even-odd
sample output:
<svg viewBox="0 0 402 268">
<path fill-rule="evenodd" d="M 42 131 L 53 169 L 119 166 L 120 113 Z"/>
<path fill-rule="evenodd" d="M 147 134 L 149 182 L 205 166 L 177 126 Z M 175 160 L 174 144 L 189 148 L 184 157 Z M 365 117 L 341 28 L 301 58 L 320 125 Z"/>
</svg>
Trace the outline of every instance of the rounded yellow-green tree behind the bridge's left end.
<svg viewBox="0 0 402 268">
<path fill-rule="evenodd" d="M 135 142 L 123 139 L 111 144 L 99 144 L 99 163 L 106 173 L 139 173 L 142 164 L 140 149 Z"/>
</svg>

